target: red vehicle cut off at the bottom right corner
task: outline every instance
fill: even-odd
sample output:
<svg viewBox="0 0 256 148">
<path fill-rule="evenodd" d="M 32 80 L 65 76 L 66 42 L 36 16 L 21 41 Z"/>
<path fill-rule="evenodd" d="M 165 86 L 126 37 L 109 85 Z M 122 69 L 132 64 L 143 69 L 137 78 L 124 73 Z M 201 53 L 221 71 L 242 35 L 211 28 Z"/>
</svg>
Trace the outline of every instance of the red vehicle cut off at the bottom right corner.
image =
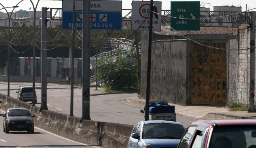
<svg viewBox="0 0 256 148">
<path fill-rule="evenodd" d="M 192 122 L 178 148 L 256 148 L 256 120 Z"/>
</svg>

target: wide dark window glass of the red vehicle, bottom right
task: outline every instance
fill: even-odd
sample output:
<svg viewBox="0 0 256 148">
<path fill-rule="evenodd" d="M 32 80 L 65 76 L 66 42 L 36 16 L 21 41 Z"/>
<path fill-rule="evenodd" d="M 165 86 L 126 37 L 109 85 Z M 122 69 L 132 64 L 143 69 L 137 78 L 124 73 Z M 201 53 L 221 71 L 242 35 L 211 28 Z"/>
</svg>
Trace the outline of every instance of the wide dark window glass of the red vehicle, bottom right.
<svg viewBox="0 0 256 148">
<path fill-rule="evenodd" d="M 209 148 L 256 148 L 256 126 L 214 127 Z"/>
</svg>

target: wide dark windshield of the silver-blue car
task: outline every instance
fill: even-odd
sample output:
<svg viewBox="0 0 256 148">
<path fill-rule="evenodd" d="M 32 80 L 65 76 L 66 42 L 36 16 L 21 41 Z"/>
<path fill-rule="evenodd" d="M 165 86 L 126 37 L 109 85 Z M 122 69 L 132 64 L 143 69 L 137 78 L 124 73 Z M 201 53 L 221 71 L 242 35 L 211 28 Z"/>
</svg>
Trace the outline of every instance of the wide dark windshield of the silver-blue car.
<svg viewBox="0 0 256 148">
<path fill-rule="evenodd" d="M 167 123 L 145 124 L 143 127 L 143 139 L 181 139 L 185 129 L 181 125 Z"/>
</svg>

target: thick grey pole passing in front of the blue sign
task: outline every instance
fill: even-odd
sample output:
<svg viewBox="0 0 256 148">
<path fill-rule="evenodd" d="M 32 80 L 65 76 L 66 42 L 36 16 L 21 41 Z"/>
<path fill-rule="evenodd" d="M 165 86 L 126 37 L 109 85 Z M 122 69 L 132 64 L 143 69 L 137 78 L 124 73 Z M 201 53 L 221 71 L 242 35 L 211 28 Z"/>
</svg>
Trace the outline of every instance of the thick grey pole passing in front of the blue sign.
<svg viewBox="0 0 256 148">
<path fill-rule="evenodd" d="M 83 0 L 83 90 L 82 90 L 82 117 L 90 118 L 90 0 Z"/>
</svg>

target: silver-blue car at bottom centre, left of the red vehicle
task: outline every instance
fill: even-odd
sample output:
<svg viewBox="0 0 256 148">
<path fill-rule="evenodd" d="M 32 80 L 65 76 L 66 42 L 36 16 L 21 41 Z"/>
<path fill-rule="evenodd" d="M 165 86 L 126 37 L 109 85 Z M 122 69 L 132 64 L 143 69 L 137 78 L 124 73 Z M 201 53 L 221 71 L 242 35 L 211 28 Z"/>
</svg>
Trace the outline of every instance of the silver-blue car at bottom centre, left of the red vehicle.
<svg viewBox="0 0 256 148">
<path fill-rule="evenodd" d="M 141 121 L 130 135 L 127 148 L 177 148 L 185 128 L 173 121 Z"/>
</svg>

